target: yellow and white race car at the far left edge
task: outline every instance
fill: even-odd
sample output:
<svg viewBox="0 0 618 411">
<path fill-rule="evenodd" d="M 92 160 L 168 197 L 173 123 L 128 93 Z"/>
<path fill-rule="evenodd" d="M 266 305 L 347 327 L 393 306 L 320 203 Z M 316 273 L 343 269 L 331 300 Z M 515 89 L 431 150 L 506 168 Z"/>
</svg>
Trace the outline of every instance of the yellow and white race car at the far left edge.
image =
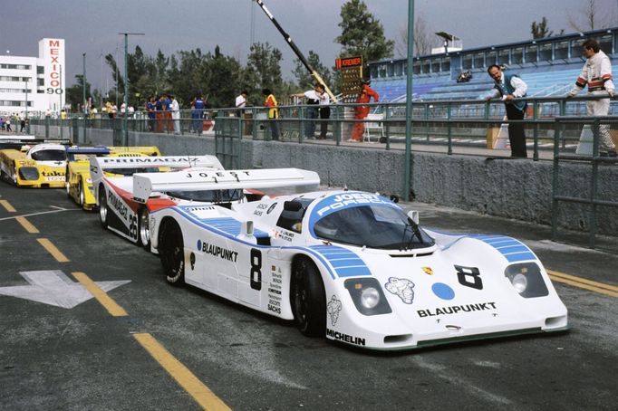
<svg viewBox="0 0 618 411">
<path fill-rule="evenodd" d="M 0 177 L 16 186 L 61 188 L 66 145 L 42 143 L 0 150 Z"/>
</svg>

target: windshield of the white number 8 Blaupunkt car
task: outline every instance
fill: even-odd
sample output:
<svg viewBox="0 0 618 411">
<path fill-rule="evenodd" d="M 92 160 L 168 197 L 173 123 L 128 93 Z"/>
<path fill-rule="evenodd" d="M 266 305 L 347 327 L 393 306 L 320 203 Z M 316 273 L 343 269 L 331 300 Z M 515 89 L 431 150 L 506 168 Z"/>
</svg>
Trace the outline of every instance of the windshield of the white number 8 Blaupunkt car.
<svg viewBox="0 0 618 411">
<path fill-rule="evenodd" d="M 326 215 L 314 225 L 318 238 L 385 250 L 433 245 L 433 240 L 400 208 L 357 206 Z"/>
</svg>

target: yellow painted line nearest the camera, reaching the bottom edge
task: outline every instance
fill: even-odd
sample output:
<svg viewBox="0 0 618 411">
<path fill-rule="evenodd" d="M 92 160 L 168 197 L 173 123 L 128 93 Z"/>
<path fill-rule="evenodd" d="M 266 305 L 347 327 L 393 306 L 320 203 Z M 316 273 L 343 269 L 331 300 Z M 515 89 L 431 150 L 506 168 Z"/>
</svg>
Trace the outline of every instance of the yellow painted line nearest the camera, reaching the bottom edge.
<svg viewBox="0 0 618 411">
<path fill-rule="evenodd" d="M 133 337 L 150 353 L 152 358 L 159 362 L 161 367 L 169 372 L 180 387 L 183 387 L 196 400 L 199 406 L 208 411 L 231 409 L 150 334 L 138 333 L 133 334 Z"/>
</svg>

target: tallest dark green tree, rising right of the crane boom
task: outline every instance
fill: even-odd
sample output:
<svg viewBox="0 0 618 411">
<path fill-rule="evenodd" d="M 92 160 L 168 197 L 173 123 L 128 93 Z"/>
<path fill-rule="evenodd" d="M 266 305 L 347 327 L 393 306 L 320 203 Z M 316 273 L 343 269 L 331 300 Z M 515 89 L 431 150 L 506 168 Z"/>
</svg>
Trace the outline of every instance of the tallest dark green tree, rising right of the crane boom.
<svg viewBox="0 0 618 411">
<path fill-rule="evenodd" d="M 342 5 L 341 17 L 342 34 L 336 38 L 343 46 L 340 55 L 362 55 L 365 64 L 392 56 L 395 42 L 386 40 L 382 24 L 367 11 L 362 0 Z"/>
</svg>

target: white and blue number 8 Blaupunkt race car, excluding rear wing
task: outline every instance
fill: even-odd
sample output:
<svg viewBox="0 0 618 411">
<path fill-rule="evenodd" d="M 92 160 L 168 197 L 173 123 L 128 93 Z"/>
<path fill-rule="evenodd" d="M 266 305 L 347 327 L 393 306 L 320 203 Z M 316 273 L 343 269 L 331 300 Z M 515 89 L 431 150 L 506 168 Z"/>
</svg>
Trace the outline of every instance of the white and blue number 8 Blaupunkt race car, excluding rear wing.
<svg viewBox="0 0 618 411">
<path fill-rule="evenodd" d="M 418 213 L 406 215 L 376 194 L 170 206 L 150 215 L 150 238 L 169 283 L 187 282 L 294 320 L 305 335 L 362 348 L 568 328 L 565 305 L 526 245 L 423 229 Z"/>
</svg>

